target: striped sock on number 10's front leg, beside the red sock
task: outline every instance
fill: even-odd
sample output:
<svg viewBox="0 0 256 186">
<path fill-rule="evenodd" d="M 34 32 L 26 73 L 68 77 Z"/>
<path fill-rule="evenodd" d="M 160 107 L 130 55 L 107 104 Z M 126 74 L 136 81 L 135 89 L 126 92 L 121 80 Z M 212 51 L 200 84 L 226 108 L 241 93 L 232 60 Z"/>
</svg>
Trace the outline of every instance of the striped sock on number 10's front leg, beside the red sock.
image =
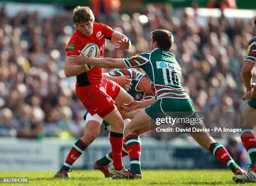
<svg viewBox="0 0 256 186">
<path fill-rule="evenodd" d="M 141 140 L 138 135 L 128 135 L 126 137 L 126 148 L 131 161 L 131 170 L 141 172 Z"/>
</svg>

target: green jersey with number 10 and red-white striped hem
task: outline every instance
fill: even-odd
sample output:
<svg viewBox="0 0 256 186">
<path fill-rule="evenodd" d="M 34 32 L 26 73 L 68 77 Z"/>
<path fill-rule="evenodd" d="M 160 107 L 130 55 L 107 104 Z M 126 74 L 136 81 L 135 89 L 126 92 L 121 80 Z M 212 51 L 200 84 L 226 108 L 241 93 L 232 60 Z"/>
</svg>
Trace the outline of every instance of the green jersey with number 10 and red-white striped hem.
<svg viewBox="0 0 256 186">
<path fill-rule="evenodd" d="M 182 69 L 174 56 L 159 48 L 153 51 L 123 58 L 127 68 L 142 68 L 154 84 L 156 99 L 189 99 L 182 87 Z"/>
</svg>

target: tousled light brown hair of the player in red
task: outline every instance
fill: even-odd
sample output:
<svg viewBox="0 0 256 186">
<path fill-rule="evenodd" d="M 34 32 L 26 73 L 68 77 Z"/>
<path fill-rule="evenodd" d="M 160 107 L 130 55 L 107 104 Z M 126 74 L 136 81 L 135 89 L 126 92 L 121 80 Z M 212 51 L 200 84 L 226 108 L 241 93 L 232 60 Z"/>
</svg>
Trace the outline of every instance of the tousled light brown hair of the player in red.
<svg viewBox="0 0 256 186">
<path fill-rule="evenodd" d="M 73 12 L 73 22 L 77 24 L 87 23 L 88 21 L 94 22 L 95 18 L 92 10 L 88 6 L 77 6 Z"/>
</svg>

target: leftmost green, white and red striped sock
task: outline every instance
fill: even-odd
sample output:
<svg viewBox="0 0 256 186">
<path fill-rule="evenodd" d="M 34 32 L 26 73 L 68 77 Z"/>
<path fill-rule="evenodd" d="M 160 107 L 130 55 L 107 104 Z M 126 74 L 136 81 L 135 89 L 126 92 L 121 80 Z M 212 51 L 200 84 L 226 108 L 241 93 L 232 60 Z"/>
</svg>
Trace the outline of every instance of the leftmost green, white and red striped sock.
<svg viewBox="0 0 256 186">
<path fill-rule="evenodd" d="M 81 139 L 77 140 L 77 142 L 74 143 L 73 147 L 69 151 L 69 155 L 67 156 L 65 163 L 59 171 L 69 171 L 69 168 L 73 165 L 77 158 L 82 155 L 86 148 L 87 145 L 83 143 Z"/>
</svg>

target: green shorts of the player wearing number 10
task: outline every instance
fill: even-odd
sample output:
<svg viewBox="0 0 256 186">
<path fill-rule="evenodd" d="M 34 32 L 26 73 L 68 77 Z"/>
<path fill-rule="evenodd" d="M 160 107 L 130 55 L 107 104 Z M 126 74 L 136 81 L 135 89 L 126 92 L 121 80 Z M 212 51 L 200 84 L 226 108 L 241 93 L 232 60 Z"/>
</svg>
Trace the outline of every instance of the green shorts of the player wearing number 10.
<svg viewBox="0 0 256 186">
<path fill-rule="evenodd" d="M 196 110 L 190 99 L 163 98 L 157 100 L 145 109 L 151 119 L 160 117 L 190 117 L 196 114 Z"/>
</svg>

